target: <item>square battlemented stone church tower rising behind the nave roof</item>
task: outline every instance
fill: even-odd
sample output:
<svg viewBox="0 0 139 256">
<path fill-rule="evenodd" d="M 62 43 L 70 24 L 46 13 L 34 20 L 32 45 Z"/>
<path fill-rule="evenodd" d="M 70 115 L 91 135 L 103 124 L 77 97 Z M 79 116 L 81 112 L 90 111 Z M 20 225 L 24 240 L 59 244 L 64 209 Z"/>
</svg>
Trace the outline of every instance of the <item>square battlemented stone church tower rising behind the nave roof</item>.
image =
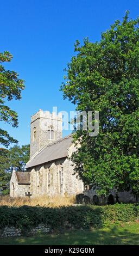
<svg viewBox="0 0 139 256">
<path fill-rule="evenodd" d="M 31 116 L 30 159 L 48 143 L 62 138 L 62 114 L 39 110 Z"/>
</svg>

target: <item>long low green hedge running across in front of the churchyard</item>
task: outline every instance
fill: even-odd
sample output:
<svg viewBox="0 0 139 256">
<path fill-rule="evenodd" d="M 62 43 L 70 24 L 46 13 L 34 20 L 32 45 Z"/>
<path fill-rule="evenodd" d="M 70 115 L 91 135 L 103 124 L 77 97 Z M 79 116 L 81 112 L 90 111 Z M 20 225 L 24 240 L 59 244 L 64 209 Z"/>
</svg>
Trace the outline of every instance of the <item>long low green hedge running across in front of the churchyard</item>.
<svg viewBox="0 0 139 256">
<path fill-rule="evenodd" d="M 102 227 L 111 222 L 133 222 L 139 218 L 138 204 L 115 204 L 106 206 L 80 205 L 61 208 L 33 206 L 0 206 L 0 229 L 5 226 L 20 228 L 22 232 L 40 223 L 50 229 L 62 230 L 65 223 L 75 229 Z"/>
</svg>

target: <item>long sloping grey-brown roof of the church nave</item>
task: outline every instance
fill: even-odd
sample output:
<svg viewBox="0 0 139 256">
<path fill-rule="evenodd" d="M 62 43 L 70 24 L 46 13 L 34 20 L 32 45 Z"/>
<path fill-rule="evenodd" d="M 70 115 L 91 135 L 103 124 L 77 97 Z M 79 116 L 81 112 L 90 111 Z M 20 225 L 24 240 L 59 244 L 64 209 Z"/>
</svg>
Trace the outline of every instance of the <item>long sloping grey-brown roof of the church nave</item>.
<svg viewBox="0 0 139 256">
<path fill-rule="evenodd" d="M 30 167 L 67 157 L 67 150 L 71 146 L 72 141 L 73 138 L 71 134 L 46 145 L 45 148 L 26 164 L 26 168 L 28 169 Z"/>
</svg>

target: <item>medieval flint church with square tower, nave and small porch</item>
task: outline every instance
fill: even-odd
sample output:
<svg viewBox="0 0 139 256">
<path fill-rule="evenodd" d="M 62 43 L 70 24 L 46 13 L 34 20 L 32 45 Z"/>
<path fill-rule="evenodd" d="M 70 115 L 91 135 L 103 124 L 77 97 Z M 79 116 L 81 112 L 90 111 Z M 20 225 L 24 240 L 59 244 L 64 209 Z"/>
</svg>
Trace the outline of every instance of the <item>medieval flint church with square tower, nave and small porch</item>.
<svg viewBox="0 0 139 256">
<path fill-rule="evenodd" d="M 68 160 L 75 150 L 72 135 L 62 137 L 62 114 L 41 109 L 31 116 L 30 160 L 26 172 L 12 172 L 10 197 L 72 196 L 84 184 Z"/>
</svg>

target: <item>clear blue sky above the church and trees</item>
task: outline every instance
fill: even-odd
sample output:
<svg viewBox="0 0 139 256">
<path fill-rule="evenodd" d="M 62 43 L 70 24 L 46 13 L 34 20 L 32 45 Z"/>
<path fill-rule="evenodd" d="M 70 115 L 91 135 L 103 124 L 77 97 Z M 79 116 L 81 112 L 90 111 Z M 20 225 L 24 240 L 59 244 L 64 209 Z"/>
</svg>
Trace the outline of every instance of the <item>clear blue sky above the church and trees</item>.
<svg viewBox="0 0 139 256">
<path fill-rule="evenodd" d="M 26 81 L 20 101 L 8 102 L 18 113 L 18 128 L 1 122 L 1 128 L 18 140 L 30 143 L 30 118 L 39 109 L 52 113 L 74 111 L 59 91 L 63 71 L 74 55 L 74 42 L 89 37 L 100 40 L 101 32 L 110 28 L 125 11 L 139 16 L 139 1 L 93 0 L 12 0 L 0 2 L 0 52 L 9 51 L 13 58 L 5 68 L 14 70 Z M 63 136 L 71 131 L 63 131 Z M 12 146 L 13 144 L 11 144 Z"/>
</svg>

